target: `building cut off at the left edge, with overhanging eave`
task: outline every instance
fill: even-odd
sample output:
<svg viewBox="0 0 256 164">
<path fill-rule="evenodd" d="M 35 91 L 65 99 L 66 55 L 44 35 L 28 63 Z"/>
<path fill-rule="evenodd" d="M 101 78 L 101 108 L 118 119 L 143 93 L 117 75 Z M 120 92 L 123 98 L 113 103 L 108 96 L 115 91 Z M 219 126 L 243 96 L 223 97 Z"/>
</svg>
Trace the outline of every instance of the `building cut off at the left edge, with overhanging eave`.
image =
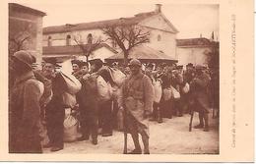
<svg viewBox="0 0 256 164">
<path fill-rule="evenodd" d="M 9 55 L 32 50 L 36 63 L 41 62 L 42 18 L 46 14 L 32 8 L 9 3 Z"/>
</svg>

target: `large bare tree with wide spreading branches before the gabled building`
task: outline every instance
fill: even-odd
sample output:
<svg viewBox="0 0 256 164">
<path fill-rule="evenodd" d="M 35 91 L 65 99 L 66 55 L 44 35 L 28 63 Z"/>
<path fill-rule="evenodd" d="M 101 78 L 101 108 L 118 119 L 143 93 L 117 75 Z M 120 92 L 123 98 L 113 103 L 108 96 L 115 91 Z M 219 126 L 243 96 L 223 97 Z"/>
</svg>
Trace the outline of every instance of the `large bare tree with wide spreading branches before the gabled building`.
<svg viewBox="0 0 256 164">
<path fill-rule="evenodd" d="M 139 26 L 112 26 L 101 28 L 103 33 L 118 45 L 124 54 L 124 65 L 128 63 L 129 51 L 140 44 L 150 41 L 150 31 Z"/>
</svg>

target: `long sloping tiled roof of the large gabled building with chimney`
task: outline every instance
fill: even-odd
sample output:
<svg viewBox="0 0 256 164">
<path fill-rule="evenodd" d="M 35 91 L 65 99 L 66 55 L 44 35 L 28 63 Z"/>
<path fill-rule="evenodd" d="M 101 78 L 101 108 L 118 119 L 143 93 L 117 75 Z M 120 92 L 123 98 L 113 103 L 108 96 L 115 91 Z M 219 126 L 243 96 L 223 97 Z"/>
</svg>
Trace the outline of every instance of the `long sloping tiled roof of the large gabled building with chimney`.
<svg viewBox="0 0 256 164">
<path fill-rule="evenodd" d="M 140 13 L 135 15 L 134 17 L 129 18 L 120 18 L 114 20 L 106 20 L 106 21 L 98 21 L 92 23 L 83 23 L 83 24 L 66 24 L 63 26 L 55 26 L 55 27 L 43 27 L 43 34 L 55 33 L 55 32 L 67 32 L 73 30 L 81 30 L 81 29 L 94 29 L 101 27 L 112 27 L 112 26 L 121 26 L 121 25 L 137 25 L 141 21 L 145 20 L 154 15 L 158 15 L 156 12 L 148 12 L 148 13 Z"/>
</svg>

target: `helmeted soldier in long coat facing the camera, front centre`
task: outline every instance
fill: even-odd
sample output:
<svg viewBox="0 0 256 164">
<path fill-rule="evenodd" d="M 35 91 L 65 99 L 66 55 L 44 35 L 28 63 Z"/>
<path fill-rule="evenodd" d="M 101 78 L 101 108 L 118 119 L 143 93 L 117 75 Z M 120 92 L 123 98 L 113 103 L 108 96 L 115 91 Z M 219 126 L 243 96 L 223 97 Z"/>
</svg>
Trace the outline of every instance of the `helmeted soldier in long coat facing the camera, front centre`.
<svg viewBox="0 0 256 164">
<path fill-rule="evenodd" d="M 141 62 L 132 59 L 129 62 L 131 76 L 122 86 L 119 108 L 125 112 L 125 126 L 131 134 L 135 149 L 131 154 L 141 154 L 139 134 L 144 143 L 144 153 L 149 154 L 148 118 L 153 111 L 154 89 L 150 78 L 142 73 Z"/>
</svg>

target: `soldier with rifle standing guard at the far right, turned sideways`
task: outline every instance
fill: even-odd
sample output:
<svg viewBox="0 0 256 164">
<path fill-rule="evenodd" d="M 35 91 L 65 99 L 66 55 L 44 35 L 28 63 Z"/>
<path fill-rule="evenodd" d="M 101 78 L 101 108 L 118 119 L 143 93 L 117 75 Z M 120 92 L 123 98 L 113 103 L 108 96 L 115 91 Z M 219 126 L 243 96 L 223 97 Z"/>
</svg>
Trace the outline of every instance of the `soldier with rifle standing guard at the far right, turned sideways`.
<svg viewBox="0 0 256 164">
<path fill-rule="evenodd" d="M 199 112 L 199 125 L 195 129 L 204 128 L 205 132 L 209 131 L 208 114 L 209 114 L 209 101 L 207 94 L 207 87 L 210 78 L 203 72 L 203 67 L 198 65 L 195 67 L 196 77 L 190 83 L 191 96 L 190 102 L 192 103 L 192 110 Z"/>
</svg>

